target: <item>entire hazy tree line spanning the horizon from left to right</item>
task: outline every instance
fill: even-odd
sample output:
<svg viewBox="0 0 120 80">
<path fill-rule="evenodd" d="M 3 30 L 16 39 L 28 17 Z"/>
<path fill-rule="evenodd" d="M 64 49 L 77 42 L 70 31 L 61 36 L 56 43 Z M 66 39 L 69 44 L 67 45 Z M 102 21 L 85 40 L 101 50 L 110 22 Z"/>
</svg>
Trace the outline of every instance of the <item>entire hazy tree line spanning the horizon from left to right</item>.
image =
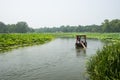
<svg viewBox="0 0 120 80">
<path fill-rule="evenodd" d="M 0 33 L 47 33 L 47 32 L 120 32 L 120 20 L 104 20 L 101 25 L 78 25 L 78 26 L 60 26 L 60 27 L 44 27 L 33 29 L 26 22 L 18 22 L 17 24 L 4 24 L 0 22 Z"/>
</svg>

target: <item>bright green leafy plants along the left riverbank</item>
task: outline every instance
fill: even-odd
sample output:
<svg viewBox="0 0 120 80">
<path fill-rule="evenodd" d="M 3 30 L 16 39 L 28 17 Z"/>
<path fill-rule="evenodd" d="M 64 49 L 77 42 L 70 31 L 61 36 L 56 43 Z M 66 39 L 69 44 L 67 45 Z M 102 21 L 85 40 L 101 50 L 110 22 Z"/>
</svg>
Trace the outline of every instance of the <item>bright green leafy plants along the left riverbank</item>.
<svg viewBox="0 0 120 80">
<path fill-rule="evenodd" d="M 43 44 L 53 39 L 49 34 L 0 34 L 0 52 L 35 44 Z"/>
</svg>

